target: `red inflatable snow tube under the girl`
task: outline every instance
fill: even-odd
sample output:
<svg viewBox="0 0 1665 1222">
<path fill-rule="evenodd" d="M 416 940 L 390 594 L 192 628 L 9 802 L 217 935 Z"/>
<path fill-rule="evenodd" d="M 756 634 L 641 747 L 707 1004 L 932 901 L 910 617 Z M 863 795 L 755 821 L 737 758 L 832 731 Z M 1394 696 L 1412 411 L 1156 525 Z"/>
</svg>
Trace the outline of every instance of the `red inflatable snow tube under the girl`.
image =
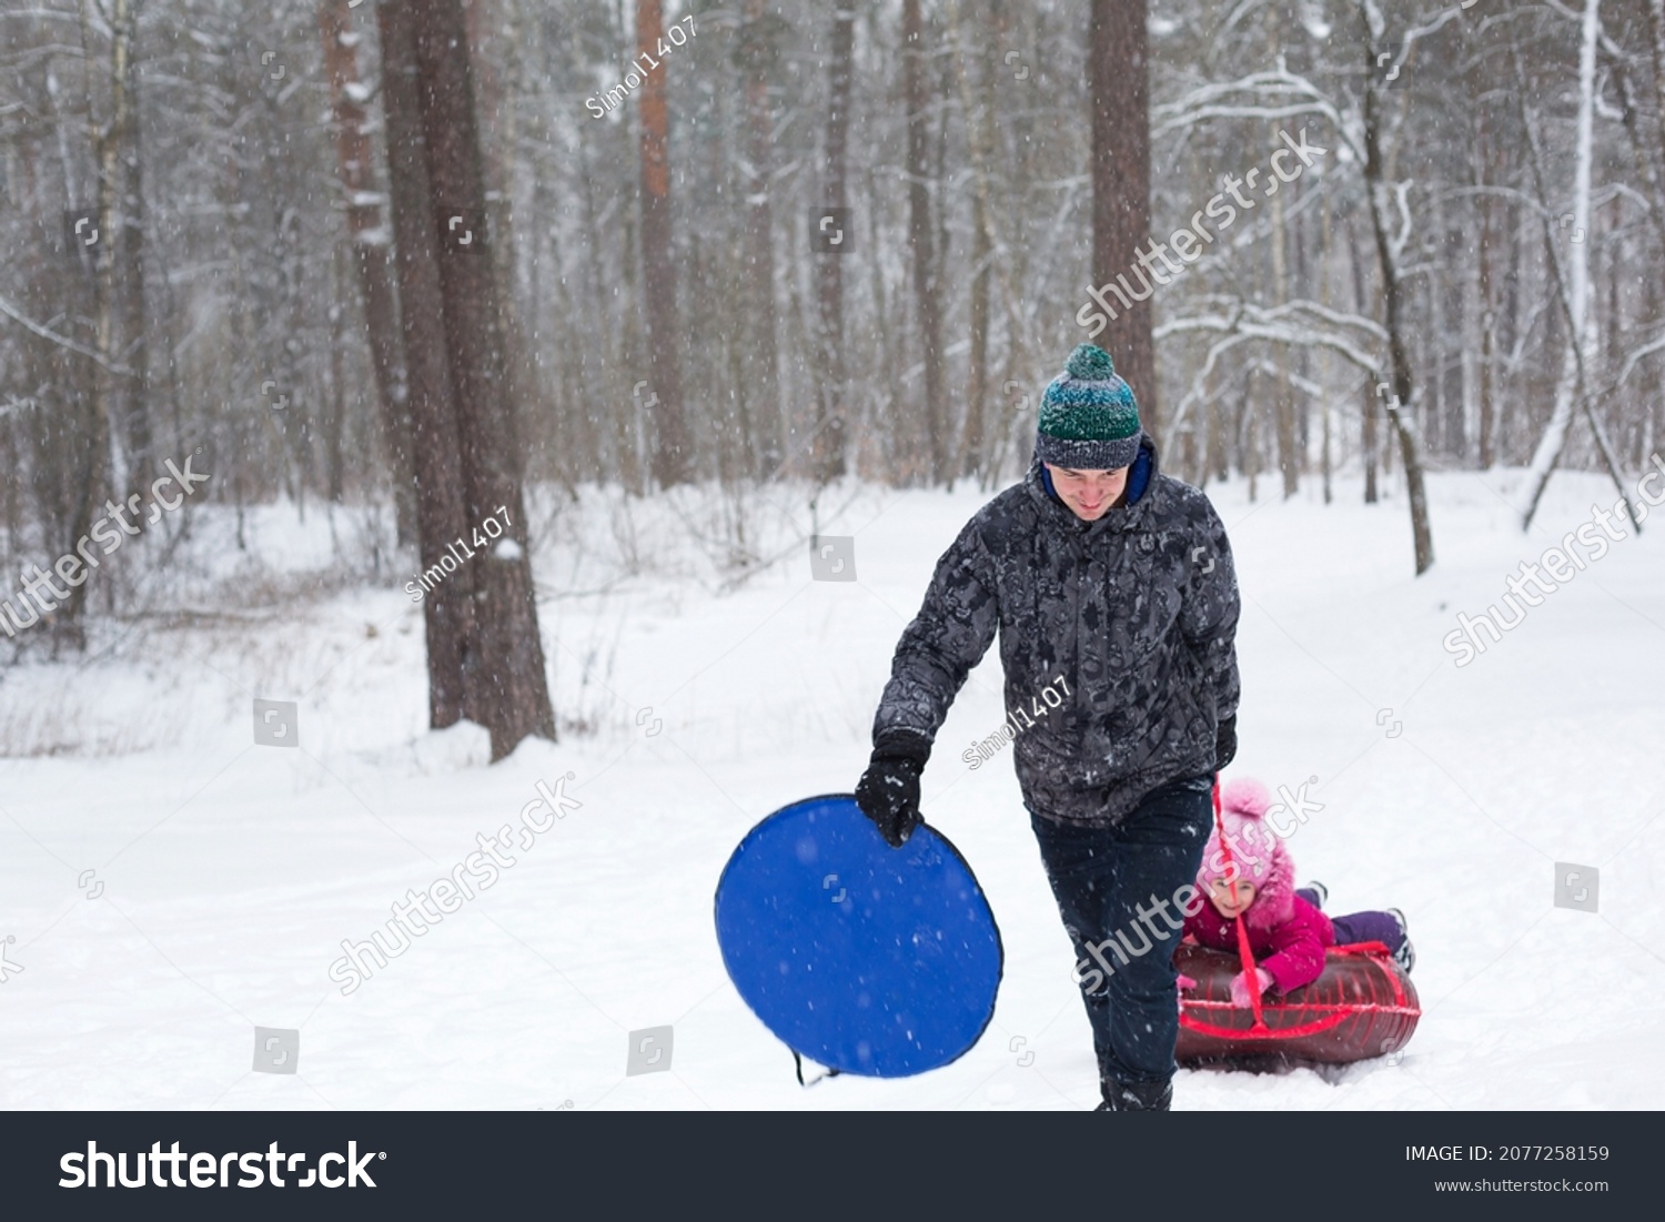
<svg viewBox="0 0 1665 1222">
<path fill-rule="evenodd" d="M 1237 1057 L 1285 1057 L 1347 1064 L 1405 1047 L 1422 1002 L 1417 989 L 1380 942 L 1332 946 L 1324 974 L 1287 997 L 1260 1001 L 1254 1012 L 1232 1006 L 1230 982 L 1242 971 L 1237 956 L 1182 942 L 1174 966 L 1197 982 L 1180 991 L 1180 1062 Z"/>
</svg>

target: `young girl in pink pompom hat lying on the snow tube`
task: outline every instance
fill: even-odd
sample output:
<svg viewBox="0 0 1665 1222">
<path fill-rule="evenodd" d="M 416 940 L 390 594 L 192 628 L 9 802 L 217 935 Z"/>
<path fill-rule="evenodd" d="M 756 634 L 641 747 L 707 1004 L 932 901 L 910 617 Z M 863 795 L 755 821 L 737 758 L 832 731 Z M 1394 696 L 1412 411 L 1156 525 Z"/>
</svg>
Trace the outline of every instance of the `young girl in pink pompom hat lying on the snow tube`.
<svg viewBox="0 0 1665 1222">
<path fill-rule="evenodd" d="M 1322 882 L 1295 891 L 1295 862 L 1262 821 L 1272 806 L 1265 786 L 1237 777 L 1220 789 L 1220 822 L 1209 836 L 1197 871 L 1197 887 L 1205 902 L 1185 919 L 1185 934 L 1217 951 L 1237 951 L 1237 914 L 1249 927 L 1249 949 L 1259 962 L 1262 992 L 1292 992 L 1312 984 L 1324 972 L 1324 947 L 1350 942 L 1382 942 L 1407 972 L 1415 951 L 1405 936 L 1405 914 L 1354 912 L 1334 921 L 1320 907 Z M 1230 864 L 1225 851 L 1230 851 Z M 1249 1006 L 1249 982 L 1242 972 L 1232 979 L 1232 1004 Z"/>
</svg>

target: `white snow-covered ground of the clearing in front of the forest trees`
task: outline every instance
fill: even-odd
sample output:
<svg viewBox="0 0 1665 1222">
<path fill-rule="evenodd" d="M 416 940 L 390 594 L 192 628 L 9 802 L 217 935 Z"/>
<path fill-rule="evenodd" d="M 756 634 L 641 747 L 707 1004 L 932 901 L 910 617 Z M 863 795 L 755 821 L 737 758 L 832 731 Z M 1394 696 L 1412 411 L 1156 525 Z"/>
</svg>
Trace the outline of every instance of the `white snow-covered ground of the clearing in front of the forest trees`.
<svg viewBox="0 0 1665 1222">
<path fill-rule="evenodd" d="M 1422 579 L 1397 488 L 1374 508 L 1349 483 L 1332 506 L 1315 479 L 1289 503 L 1210 489 L 1244 591 L 1232 771 L 1272 787 L 1317 777 L 1322 811 L 1289 841 L 1300 876 L 1329 884 L 1332 911 L 1405 909 L 1425 1012 L 1402 1064 L 1182 1070 L 1175 1107 L 1665 1097 L 1665 514 L 1459 668 L 1440 644 L 1457 613 L 1484 613 L 1518 561 L 1613 501 L 1603 479 L 1557 474 L 1523 536 L 1518 483 L 1434 476 L 1439 564 Z M 90 659 L 5 674 L 0 1105 L 1097 1102 L 1009 753 L 976 772 L 959 763 L 1002 719 L 992 651 L 924 779 L 926 816 L 977 871 L 1006 944 L 981 1044 L 917 1079 L 799 1089 L 713 934 L 711 892 L 741 836 L 854 786 L 896 636 L 984 498 L 828 494 L 819 531 L 856 538 L 856 583 L 811 581 L 808 548 L 784 533 L 811 529 L 798 511 L 761 546 L 788 558 L 729 588 L 706 554 L 716 528 L 698 521 L 709 498 L 629 521 L 589 499 L 581 529 L 566 511 L 536 551 L 558 713 L 588 731 L 496 766 L 478 728 L 425 733 L 421 613 L 396 588 L 410 574 L 321 599 L 280 579 L 226 599 L 236 586 L 221 583 L 225 614 L 145 621 Z M 305 528 L 273 509 L 248 529 L 291 578 L 328 559 L 316 509 Z M 213 511 L 196 533 L 200 563 L 235 554 Z M 300 749 L 251 743 L 253 698 L 298 703 Z M 450 876 L 476 834 L 568 772 L 579 807 L 341 994 L 328 971 L 343 939 L 368 939 L 406 889 Z M 1598 912 L 1553 906 L 1555 862 L 1600 871 Z M 671 1072 L 626 1077 L 628 1032 L 666 1024 Z M 256 1026 L 300 1031 L 296 1074 L 251 1072 Z"/>
</svg>

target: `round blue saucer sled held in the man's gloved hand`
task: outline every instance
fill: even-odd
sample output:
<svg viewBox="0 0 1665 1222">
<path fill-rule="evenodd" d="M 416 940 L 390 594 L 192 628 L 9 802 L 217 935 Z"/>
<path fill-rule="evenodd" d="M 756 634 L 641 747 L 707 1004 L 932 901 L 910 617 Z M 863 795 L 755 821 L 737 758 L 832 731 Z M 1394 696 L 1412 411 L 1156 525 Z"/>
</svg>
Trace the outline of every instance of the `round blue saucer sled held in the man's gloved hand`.
<svg viewBox="0 0 1665 1222">
<path fill-rule="evenodd" d="M 716 922 L 763 1026 L 841 1074 L 924 1074 L 994 1017 L 1001 931 L 966 859 L 924 824 L 892 849 L 849 794 L 753 827 L 723 869 Z"/>
</svg>

